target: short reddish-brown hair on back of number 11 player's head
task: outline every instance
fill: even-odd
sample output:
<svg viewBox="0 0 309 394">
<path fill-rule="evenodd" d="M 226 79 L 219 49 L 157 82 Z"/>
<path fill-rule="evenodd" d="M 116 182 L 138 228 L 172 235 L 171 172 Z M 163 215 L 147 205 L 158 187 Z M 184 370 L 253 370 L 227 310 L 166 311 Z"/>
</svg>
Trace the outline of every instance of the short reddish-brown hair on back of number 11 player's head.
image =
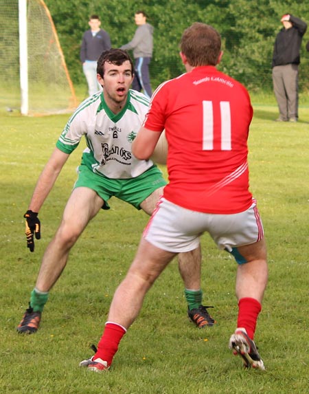
<svg viewBox="0 0 309 394">
<path fill-rule="evenodd" d="M 183 32 L 180 47 L 193 67 L 216 65 L 221 51 L 221 37 L 211 25 L 195 22 Z"/>
</svg>

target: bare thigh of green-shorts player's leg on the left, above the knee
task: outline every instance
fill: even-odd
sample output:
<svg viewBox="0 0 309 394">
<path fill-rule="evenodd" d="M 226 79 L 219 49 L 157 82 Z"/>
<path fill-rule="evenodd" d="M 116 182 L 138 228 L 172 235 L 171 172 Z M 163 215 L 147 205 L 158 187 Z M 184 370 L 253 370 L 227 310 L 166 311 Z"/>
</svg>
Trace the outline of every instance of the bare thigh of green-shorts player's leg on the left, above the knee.
<svg viewBox="0 0 309 394">
<path fill-rule="evenodd" d="M 87 187 L 74 188 L 62 217 L 62 226 L 80 233 L 102 208 L 102 198 Z"/>
</svg>

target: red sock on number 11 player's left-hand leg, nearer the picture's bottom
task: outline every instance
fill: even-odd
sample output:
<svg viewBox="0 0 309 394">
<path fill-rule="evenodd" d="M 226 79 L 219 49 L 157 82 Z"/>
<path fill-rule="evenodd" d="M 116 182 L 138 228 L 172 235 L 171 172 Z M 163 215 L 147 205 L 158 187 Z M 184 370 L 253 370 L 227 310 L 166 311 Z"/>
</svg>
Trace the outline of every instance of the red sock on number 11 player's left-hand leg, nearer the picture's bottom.
<svg viewBox="0 0 309 394">
<path fill-rule="evenodd" d="M 126 330 L 117 324 L 107 322 L 103 335 L 98 343 L 98 351 L 95 353 L 93 360 L 101 358 L 106 361 L 108 366 L 111 365 L 113 357 L 118 350 L 118 345 Z"/>
</svg>

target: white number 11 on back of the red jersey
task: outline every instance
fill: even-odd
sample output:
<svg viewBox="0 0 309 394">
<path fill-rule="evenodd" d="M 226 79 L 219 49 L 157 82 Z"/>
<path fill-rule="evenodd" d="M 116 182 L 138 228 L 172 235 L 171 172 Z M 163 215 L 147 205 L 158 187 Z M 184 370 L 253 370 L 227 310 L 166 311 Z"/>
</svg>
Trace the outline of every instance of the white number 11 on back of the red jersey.
<svg viewBox="0 0 309 394">
<path fill-rule="evenodd" d="M 221 151 L 231 151 L 231 109 L 229 101 L 220 101 Z M 212 101 L 203 101 L 203 151 L 214 150 L 214 109 Z"/>
</svg>

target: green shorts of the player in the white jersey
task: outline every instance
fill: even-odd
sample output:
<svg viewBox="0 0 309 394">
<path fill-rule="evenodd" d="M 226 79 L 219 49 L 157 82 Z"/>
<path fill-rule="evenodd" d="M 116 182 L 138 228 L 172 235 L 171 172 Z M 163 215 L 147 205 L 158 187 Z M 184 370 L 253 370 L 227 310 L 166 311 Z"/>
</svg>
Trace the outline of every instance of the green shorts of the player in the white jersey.
<svg viewBox="0 0 309 394">
<path fill-rule="evenodd" d="M 140 208 L 140 204 L 158 188 L 164 187 L 166 181 L 157 166 L 152 166 L 138 177 L 129 179 L 111 179 L 93 173 L 85 164 L 78 167 L 78 179 L 74 188 L 86 187 L 95 190 L 102 199 L 102 209 L 109 209 L 108 199 L 115 196 Z"/>
</svg>

